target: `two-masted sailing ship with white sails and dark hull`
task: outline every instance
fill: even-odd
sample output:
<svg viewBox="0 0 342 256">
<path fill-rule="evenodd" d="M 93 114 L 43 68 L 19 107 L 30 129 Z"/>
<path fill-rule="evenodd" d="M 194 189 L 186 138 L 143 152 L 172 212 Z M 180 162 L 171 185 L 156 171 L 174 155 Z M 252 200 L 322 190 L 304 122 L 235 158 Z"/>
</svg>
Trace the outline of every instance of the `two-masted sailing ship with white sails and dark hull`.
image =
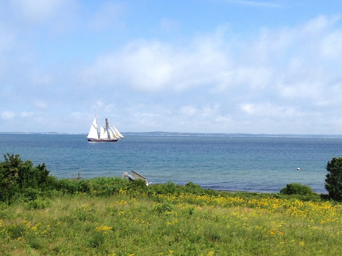
<svg viewBox="0 0 342 256">
<path fill-rule="evenodd" d="M 106 128 L 100 126 L 100 137 L 98 136 L 96 115 L 93 124 L 90 126 L 90 131 L 87 136 L 88 141 L 104 141 L 104 142 L 115 142 L 124 138 L 123 135 L 118 131 L 118 129 L 110 127 L 107 116 L 106 116 Z"/>
</svg>

